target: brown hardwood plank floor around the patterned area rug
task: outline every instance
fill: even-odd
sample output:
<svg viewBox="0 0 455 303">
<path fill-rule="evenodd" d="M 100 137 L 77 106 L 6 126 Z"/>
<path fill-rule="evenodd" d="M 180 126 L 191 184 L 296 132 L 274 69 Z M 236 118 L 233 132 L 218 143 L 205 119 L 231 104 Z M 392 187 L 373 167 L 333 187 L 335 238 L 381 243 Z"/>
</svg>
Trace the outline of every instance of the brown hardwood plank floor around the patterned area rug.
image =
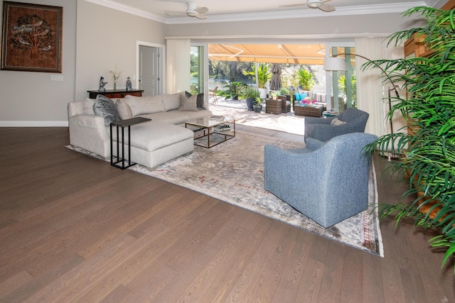
<svg viewBox="0 0 455 303">
<path fill-rule="evenodd" d="M 0 302 L 455 302 L 453 263 L 409 223 L 381 221 L 380 258 L 68 150 L 68 128 L 0 142 Z"/>
</svg>

